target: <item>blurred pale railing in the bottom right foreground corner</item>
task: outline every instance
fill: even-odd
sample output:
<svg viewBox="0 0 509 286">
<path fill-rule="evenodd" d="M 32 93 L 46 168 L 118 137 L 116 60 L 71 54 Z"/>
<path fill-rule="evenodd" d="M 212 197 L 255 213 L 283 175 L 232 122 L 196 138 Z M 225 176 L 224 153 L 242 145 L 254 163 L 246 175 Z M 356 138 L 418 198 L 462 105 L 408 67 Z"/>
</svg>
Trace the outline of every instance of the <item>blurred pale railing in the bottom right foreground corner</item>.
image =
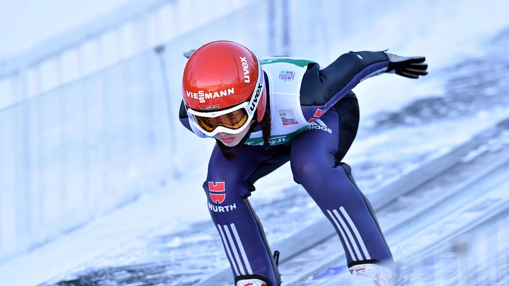
<svg viewBox="0 0 509 286">
<path fill-rule="evenodd" d="M 404 263 L 413 268 L 413 285 L 507 285 L 509 220 L 486 225 L 454 241 L 414 254 Z"/>
</svg>

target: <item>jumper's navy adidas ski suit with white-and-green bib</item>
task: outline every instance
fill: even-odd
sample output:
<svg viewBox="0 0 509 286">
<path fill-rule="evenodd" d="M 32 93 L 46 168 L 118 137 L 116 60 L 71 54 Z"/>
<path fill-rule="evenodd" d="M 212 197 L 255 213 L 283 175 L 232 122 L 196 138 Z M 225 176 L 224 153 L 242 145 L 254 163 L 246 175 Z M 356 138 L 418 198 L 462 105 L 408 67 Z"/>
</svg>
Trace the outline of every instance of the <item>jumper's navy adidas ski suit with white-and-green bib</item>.
<svg viewBox="0 0 509 286">
<path fill-rule="evenodd" d="M 341 162 L 359 122 L 351 90 L 360 81 L 383 73 L 383 52 L 349 52 L 320 70 L 312 61 L 261 59 L 271 114 L 270 149 L 264 149 L 259 126 L 238 155 L 227 160 L 216 145 L 203 188 L 210 215 L 223 242 L 235 280 L 259 278 L 279 285 L 280 278 L 262 225 L 247 197 L 253 183 L 290 161 L 301 184 L 335 228 L 348 266 L 392 261 L 370 203 L 360 192 L 350 166 Z M 188 121 L 182 124 L 203 136 Z"/>
</svg>

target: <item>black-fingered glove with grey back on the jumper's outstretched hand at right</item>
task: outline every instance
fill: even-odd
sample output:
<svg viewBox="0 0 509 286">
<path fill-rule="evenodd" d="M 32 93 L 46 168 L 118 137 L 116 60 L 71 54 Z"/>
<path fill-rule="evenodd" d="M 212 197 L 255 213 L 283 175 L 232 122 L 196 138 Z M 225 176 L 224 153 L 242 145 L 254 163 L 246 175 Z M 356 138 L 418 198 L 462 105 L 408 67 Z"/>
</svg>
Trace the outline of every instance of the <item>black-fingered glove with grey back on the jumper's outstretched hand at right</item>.
<svg viewBox="0 0 509 286">
<path fill-rule="evenodd" d="M 399 74 L 409 78 L 418 78 L 419 75 L 427 75 L 426 58 L 423 56 L 401 56 L 393 53 L 385 53 L 389 58 L 389 67 L 386 72 Z"/>
</svg>

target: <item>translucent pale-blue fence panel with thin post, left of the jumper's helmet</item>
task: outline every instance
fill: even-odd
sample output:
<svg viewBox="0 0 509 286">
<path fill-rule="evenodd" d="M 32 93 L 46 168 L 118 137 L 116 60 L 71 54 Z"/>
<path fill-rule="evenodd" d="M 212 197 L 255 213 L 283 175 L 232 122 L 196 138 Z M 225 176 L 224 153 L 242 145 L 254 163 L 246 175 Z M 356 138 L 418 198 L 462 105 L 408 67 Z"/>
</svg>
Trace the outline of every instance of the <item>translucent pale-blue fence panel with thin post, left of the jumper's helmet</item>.
<svg viewBox="0 0 509 286">
<path fill-rule="evenodd" d="M 167 3 L 173 7 L 179 1 Z M 264 45 L 240 33 L 241 23 L 260 2 L 235 3 L 219 2 L 229 13 L 208 19 L 206 12 L 214 9 L 197 9 L 200 21 L 182 28 L 192 28 L 193 33 L 172 34 L 162 53 L 153 47 L 139 51 L 156 43 L 149 41 L 106 63 L 111 48 L 99 48 L 102 36 L 97 35 L 81 43 L 78 51 L 64 48 L 9 79 L 16 83 L 13 102 L 0 109 L 0 261 L 161 188 L 172 177 L 192 178 L 192 172 L 184 172 L 190 162 L 206 163 L 210 147 L 191 140 L 193 134 L 178 122 L 181 91 L 176 82 L 186 60 L 182 51 L 224 38 Z M 166 6 L 159 9 L 152 12 L 155 19 L 168 11 L 179 17 L 188 14 Z M 265 27 L 251 32 L 263 34 Z M 114 46 L 120 48 L 122 42 Z M 74 59 L 68 66 L 62 64 L 67 53 Z M 161 73 L 161 63 L 166 74 Z M 110 67 L 104 68 L 106 64 Z M 64 78 L 69 69 L 78 72 Z M 193 146 L 195 150 L 189 150 Z"/>
</svg>

